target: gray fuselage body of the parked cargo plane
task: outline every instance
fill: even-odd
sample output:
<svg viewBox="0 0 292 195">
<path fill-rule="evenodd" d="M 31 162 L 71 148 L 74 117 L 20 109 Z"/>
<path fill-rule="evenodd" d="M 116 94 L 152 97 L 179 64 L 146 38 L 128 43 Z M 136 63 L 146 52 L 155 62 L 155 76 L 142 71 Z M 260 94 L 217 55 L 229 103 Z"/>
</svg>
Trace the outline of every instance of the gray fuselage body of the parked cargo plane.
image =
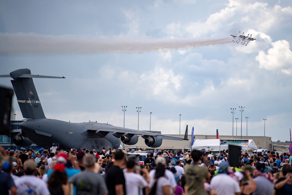
<svg viewBox="0 0 292 195">
<path fill-rule="evenodd" d="M 63 149 L 95 149 L 102 150 L 111 147 L 117 149 L 121 139 L 114 137 L 112 133 L 104 138 L 94 132 L 88 132 L 88 128 L 94 126 L 95 122 L 73 123 L 54 119 L 28 119 L 20 123 L 22 134 L 38 146 L 51 146 L 53 142 L 60 143 Z"/>
</svg>

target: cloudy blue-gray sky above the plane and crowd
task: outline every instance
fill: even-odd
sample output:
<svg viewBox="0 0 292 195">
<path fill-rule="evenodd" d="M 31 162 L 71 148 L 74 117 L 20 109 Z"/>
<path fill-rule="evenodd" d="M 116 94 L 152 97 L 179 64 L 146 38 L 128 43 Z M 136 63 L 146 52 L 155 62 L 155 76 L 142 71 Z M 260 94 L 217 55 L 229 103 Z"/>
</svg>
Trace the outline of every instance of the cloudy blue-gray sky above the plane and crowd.
<svg viewBox="0 0 292 195">
<path fill-rule="evenodd" d="M 137 130 L 141 107 L 139 130 L 152 112 L 163 134 L 236 135 L 237 125 L 286 141 L 291 19 L 290 0 L 0 1 L 0 74 L 66 77 L 34 79 L 46 118 L 123 127 L 127 106 L 125 127 Z M 233 43 L 239 31 L 256 40 Z M 23 119 L 15 96 L 14 113 Z"/>
</svg>

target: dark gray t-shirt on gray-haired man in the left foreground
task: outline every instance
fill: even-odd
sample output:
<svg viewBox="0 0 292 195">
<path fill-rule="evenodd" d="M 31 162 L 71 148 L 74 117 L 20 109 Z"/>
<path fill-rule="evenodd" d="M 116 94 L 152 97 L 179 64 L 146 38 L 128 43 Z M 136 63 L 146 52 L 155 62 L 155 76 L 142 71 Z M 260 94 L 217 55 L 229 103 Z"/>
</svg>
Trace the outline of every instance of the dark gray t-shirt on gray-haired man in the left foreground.
<svg viewBox="0 0 292 195">
<path fill-rule="evenodd" d="M 69 183 L 74 184 L 77 189 L 77 195 L 107 194 L 105 181 L 93 171 L 84 170 L 69 178 Z"/>
</svg>

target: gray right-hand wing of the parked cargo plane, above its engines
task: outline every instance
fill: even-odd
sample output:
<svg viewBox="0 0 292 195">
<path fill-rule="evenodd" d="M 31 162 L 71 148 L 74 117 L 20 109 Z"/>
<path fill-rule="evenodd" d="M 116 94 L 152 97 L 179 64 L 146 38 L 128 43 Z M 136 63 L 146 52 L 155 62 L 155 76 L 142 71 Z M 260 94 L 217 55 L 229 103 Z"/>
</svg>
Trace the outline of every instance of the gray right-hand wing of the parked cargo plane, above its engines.
<svg viewBox="0 0 292 195">
<path fill-rule="evenodd" d="M 95 133 L 98 134 L 100 137 L 105 137 L 109 132 L 112 132 L 113 135 L 117 138 L 126 136 L 131 139 L 134 135 L 140 135 L 144 139 L 147 139 L 147 137 L 149 136 L 153 136 L 157 139 L 170 139 L 170 140 L 179 140 L 179 141 L 187 140 L 186 136 L 185 138 L 179 138 L 179 137 L 174 137 L 170 135 L 150 132 L 150 131 L 141 131 L 141 130 L 123 128 L 123 127 L 116 127 L 109 124 L 98 123 L 98 122 L 88 122 L 84 126 L 84 130 L 81 134 L 86 134 L 86 131 L 95 131 Z"/>
</svg>

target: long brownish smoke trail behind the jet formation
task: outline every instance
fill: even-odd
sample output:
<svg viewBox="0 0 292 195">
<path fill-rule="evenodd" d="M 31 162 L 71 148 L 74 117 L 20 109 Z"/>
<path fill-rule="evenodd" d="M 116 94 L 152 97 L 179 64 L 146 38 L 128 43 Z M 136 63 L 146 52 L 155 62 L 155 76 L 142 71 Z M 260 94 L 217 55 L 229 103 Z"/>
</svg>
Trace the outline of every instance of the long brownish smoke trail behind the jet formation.
<svg viewBox="0 0 292 195">
<path fill-rule="evenodd" d="M 231 38 L 96 37 L 0 33 L 0 54 L 145 53 L 231 43 Z"/>
</svg>

